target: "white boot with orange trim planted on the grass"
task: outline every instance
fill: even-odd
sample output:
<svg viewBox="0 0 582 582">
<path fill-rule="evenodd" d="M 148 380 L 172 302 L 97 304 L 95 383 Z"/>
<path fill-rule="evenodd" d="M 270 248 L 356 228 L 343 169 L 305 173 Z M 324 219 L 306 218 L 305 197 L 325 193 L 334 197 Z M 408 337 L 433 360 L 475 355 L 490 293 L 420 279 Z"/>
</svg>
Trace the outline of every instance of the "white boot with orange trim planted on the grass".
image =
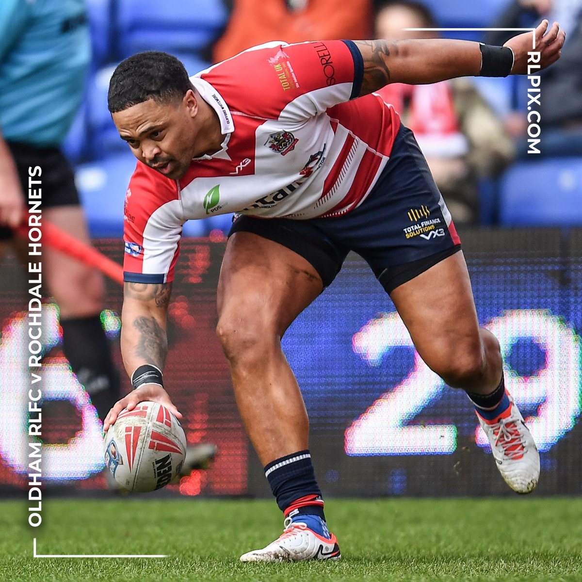
<svg viewBox="0 0 582 582">
<path fill-rule="evenodd" d="M 277 540 L 267 547 L 255 549 L 240 556 L 241 562 L 299 562 L 300 560 L 339 560 L 338 540 L 322 537 L 300 521 L 292 522 L 288 517 L 285 530 Z"/>
</svg>

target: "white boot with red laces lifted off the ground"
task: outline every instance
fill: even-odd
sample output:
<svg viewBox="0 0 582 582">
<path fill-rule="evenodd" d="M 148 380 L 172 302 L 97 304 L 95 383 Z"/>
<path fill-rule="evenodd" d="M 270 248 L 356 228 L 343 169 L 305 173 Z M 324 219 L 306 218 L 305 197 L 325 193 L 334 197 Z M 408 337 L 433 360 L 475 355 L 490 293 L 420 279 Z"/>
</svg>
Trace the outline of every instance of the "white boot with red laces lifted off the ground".
<svg viewBox="0 0 582 582">
<path fill-rule="evenodd" d="M 517 493 L 530 493 L 540 478 L 540 453 L 509 393 L 508 397 L 508 409 L 494 420 L 476 411 L 477 418 L 505 482 Z"/>
</svg>

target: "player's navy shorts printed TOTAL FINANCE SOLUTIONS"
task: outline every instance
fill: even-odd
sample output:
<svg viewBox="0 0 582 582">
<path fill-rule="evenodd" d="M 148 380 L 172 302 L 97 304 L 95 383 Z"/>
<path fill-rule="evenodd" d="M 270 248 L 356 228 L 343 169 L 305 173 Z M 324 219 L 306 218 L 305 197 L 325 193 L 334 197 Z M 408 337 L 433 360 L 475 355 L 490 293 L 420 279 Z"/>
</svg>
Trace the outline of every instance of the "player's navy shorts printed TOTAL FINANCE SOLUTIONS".
<svg viewBox="0 0 582 582">
<path fill-rule="evenodd" d="M 304 257 L 327 287 L 349 251 L 372 268 L 386 292 L 460 250 L 460 240 L 413 133 L 400 126 L 378 182 L 340 217 L 293 220 L 239 215 L 229 236 L 252 232 Z"/>
</svg>

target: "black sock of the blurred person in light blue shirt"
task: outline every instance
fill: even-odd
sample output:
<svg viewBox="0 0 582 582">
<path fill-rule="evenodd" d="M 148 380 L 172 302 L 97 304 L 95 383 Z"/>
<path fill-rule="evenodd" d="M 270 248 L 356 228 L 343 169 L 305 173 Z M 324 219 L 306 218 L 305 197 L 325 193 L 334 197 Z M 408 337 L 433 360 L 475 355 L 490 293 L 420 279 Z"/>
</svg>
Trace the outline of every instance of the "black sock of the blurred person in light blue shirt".
<svg viewBox="0 0 582 582">
<path fill-rule="evenodd" d="M 99 315 L 61 320 L 63 353 L 101 420 L 120 398 L 119 372 Z"/>
</svg>

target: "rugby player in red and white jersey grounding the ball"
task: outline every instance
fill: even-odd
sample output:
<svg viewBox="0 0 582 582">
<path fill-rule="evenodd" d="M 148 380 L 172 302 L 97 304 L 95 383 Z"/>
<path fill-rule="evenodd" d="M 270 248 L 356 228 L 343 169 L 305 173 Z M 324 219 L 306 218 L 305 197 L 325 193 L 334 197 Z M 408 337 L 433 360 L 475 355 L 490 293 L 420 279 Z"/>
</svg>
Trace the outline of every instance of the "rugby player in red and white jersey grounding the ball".
<svg viewBox="0 0 582 582">
<path fill-rule="evenodd" d="M 541 68 L 565 33 L 535 30 Z M 509 487 L 540 459 L 480 328 L 455 226 L 410 130 L 374 91 L 527 73 L 533 34 L 504 47 L 459 40 L 270 42 L 187 76 L 160 52 L 120 63 L 109 110 L 138 159 L 126 198 L 122 352 L 134 391 L 168 406 L 166 312 L 182 225 L 235 212 L 218 282 L 217 333 L 236 401 L 285 531 L 243 561 L 338 559 L 308 450 L 308 418 L 281 350 L 292 321 L 350 251 L 391 296 L 423 360 L 467 392 Z M 424 235 L 424 236 L 422 236 Z M 196 357 L 196 346 L 193 346 Z"/>
</svg>

